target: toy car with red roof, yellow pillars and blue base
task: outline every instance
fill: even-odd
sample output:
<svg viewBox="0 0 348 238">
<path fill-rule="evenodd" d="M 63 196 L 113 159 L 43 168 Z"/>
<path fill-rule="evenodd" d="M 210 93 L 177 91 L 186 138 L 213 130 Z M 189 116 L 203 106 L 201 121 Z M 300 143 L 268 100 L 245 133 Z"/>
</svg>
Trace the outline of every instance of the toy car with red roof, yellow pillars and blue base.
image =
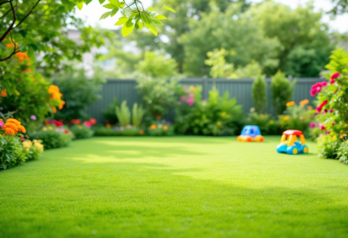
<svg viewBox="0 0 348 238">
<path fill-rule="evenodd" d="M 297 142 L 297 137 L 300 137 L 300 142 Z M 283 132 L 280 144 L 277 146 L 278 153 L 287 154 L 307 154 L 308 146 L 304 135 L 300 130 L 286 130 Z"/>
</svg>

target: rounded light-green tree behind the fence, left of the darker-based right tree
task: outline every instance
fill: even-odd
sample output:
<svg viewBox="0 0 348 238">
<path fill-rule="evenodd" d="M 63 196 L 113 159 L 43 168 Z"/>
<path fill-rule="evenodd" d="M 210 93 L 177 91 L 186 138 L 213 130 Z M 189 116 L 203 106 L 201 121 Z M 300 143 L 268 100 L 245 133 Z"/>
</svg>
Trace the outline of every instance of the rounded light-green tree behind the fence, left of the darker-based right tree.
<svg viewBox="0 0 348 238">
<path fill-rule="evenodd" d="M 245 66 L 252 60 L 263 68 L 278 65 L 275 53 L 279 47 L 276 39 L 263 34 L 257 22 L 252 22 L 241 7 L 229 5 L 225 12 L 212 5 L 209 13 L 202 13 L 199 21 L 189 23 L 191 32 L 183 34 L 179 42 L 184 47 L 184 72 L 189 76 L 209 73 L 204 64 L 206 53 L 215 48 L 233 50 L 235 54 L 226 56 L 226 61 L 235 66 Z"/>
</svg>

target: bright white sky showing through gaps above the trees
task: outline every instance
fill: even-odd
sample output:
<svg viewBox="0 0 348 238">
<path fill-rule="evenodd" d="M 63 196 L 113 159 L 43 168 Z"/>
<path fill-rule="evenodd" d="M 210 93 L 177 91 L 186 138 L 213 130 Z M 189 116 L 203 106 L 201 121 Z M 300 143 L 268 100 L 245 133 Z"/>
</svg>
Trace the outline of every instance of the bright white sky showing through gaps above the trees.
<svg viewBox="0 0 348 238">
<path fill-rule="evenodd" d="M 252 0 L 253 2 L 260 2 L 261 0 Z M 281 2 L 291 6 L 292 8 L 296 8 L 299 4 L 304 5 L 309 0 L 275 0 L 276 2 Z M 143 0 L 145 5 L 150 5 L 151 0 Z M 320 10 L 329 11 L 332 8 L 332 4 L 330 0 L 314 0 L 315 7 Z M 105 13 L 108 9 L 103 8 L 99 1 L 94 0 L 88 6 L 84 5 L 82 10 L 77 9 L 77 17 L 85 19 L 86 24 L 91 26 L 99 25 L 103 28 L 108 29 L 117 29 L 115 26 L 115 22 L 117 22 L 117 16 L 113 18 L 107 18 L 99 21 L 100 16 Z M 332 20 L 329 16 L 323 17 L 323 22 L 329 23 L 332 31 L 339 31 L 341 33 L 348 32 L 348 14 L 344 14 L 336 17 L 336 19 Z"/>
</svg>

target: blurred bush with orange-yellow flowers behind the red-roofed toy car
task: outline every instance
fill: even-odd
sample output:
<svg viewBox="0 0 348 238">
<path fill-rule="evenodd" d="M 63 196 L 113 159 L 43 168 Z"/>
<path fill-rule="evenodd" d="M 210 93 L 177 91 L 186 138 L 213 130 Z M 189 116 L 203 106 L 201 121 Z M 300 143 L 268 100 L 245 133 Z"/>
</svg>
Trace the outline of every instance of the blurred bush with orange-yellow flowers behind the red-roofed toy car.
<svg viewBox="0 0 348 238">
<path fill-rule="evenodd" d="M 309 100 L 302 100 L 299 105 L 294 101 L 286 103 L 285 114 L 279 115 L 279 124 L 282 130 L 296 129 L 309 133 L 310 123 L 314 121 L 314 110 L 308 106 Z"/>
</svg>

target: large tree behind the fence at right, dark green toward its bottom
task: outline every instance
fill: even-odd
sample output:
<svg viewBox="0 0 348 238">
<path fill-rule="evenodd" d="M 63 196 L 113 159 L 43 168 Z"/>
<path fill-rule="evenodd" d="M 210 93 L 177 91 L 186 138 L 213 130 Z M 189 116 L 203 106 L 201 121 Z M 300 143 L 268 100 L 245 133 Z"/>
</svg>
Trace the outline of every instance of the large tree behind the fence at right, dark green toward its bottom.
<svg viewBox="0 0 348 238">
<path fill-rule="evenodd" d="M 266 37 L 277 39 L 279 65 L 266 70 L 274 74 L 278 68 L 287 75 L 317 77 L 334 49 L 333 35 L 321 22 L 322 13 L 315 12 L 313 3 L 291 9 L 289 6 L 264 1 L 251 7 L 246 17 L 258 22 Z M 302 58 L 303 57 L 303 58 Z"/>
</svg>

